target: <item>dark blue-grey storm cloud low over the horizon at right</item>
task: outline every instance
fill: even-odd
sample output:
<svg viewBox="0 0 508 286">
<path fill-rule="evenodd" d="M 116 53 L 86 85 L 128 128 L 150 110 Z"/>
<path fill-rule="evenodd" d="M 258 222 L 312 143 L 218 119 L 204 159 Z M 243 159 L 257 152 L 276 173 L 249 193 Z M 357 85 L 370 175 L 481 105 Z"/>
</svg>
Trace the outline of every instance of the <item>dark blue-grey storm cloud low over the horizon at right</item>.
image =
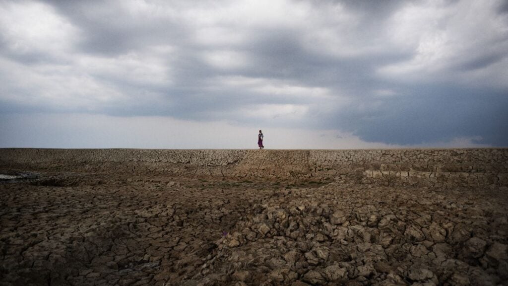
<svg viewBox="0 0 508 286">
<path fill-rule="evenodd" d="M 412 87 L 414 89 L 414 87 Z M 414 95 L 392 98 L 368 115 L 349 110 L 335 120 L 346 122 L 344 130 L 356 130 L 361 138 L 380 141 L 390 138 L 400 145 L 449 141 L 476 134 L 480 141 L 506 145 L 508 106 L 506 94 L 483 90 L 420 87 Z M 394 110 L 395 108 L 395 110 Z M 352 120 L 353 119 L 353 120 Z"/>
</svg>

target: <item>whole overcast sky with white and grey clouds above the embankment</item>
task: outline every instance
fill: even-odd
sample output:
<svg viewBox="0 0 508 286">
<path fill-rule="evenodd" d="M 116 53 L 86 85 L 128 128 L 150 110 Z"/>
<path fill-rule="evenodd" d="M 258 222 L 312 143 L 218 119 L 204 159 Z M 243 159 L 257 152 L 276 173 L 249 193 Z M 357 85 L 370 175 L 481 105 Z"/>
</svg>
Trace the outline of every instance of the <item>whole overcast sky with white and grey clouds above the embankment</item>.
<svg viewBox="0 0 508 286">
<path fill-rule="evenodd" d="M 508 146 L 508 1 L 0 0 L 0 147 Z"/>
</svg>

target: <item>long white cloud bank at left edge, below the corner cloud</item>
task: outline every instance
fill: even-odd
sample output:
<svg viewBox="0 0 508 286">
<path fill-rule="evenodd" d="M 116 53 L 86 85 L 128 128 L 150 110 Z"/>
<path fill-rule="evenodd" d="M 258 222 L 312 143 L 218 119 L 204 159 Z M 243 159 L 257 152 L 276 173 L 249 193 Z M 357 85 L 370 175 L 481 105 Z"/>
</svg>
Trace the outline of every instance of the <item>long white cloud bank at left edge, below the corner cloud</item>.
<svg viewBox="0 0 508 286">
<path fill-rule="evenodd" d="M 62 54 L 64 63 L 24 65 L 0 55 L 0 99 L 50 110 L 101 111 L 136 105 L 142 97 L 156 102 L 151 91 L 172 84 L 165 56 L 170 47 L 149 53 L 128 53 L 115 58 Z M 150 87 L 150 89 L 144 89 Z"/>
</svg>

